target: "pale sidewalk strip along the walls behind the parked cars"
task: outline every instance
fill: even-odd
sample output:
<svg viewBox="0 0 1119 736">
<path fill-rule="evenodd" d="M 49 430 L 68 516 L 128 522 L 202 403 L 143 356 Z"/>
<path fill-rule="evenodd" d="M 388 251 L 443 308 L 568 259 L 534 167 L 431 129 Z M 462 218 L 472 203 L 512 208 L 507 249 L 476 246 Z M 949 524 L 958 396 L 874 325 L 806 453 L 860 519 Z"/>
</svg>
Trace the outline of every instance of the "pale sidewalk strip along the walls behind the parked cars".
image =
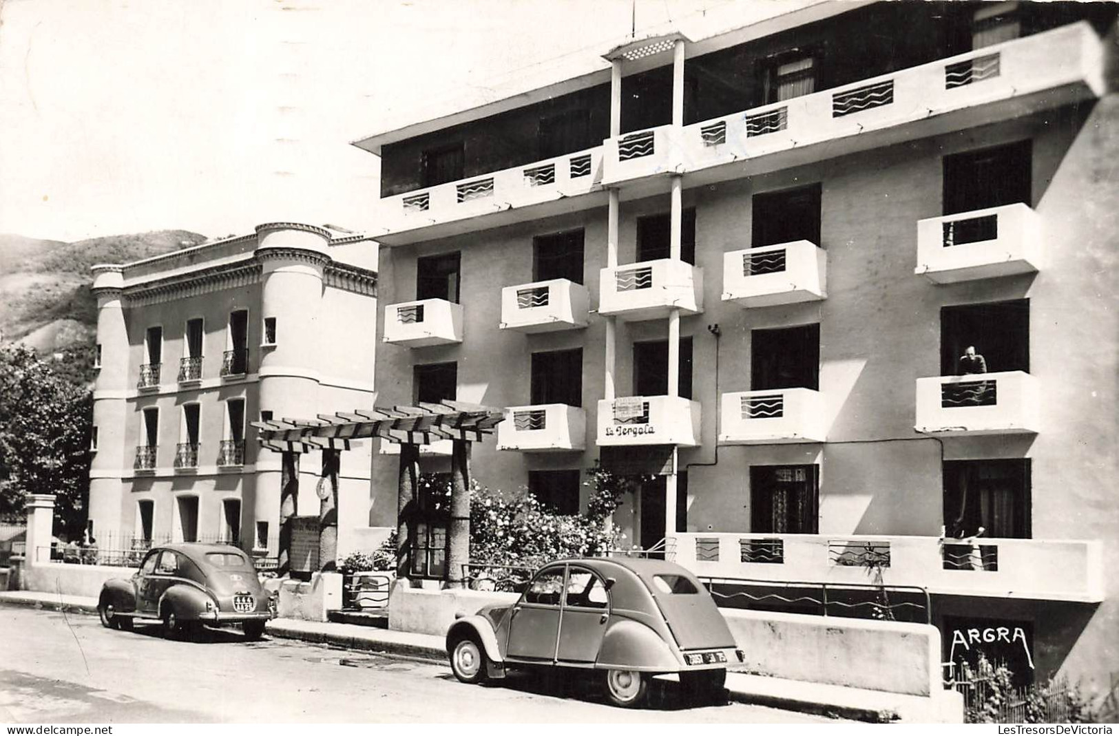
<svg viewBox="0 0 1119 736">
<path fill-rule="evenodd" d="M 53 611 L 95 613 L 97 601 L 75 595 L 53 595 L 30 591 L 2 592 L 0 604 L 30 605 Z M 267 633 L 278 639 L 331 644 L 346 649 L 420 657 L 446 661 L 442 636 L 374 629 L 346 623 L 275 619 Z M 728 672 L 726 688 L 732 700 L 784 710 L 849 718 L 869 723 L 944 723 L 939 698 L 919 698 L 877 690 L 859 690 L 773 677 Z M 949 696 L 946 695 L 946 698 Z"/>
</svg>

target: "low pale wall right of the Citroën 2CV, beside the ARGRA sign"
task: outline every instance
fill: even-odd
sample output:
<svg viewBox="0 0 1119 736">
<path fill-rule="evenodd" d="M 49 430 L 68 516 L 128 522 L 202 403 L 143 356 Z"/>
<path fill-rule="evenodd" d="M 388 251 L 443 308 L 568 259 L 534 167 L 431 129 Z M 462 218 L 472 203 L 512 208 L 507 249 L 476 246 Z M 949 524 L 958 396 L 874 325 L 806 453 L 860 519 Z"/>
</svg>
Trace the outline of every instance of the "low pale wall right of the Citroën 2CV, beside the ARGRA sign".
<svg viewBox="0 0 1119 736">
<path fill-rule="evenodd" d="M 940 632 L 893 621 L 722 610 L 759 674 L 923 697 L 943 691 Z"/>
</svg>

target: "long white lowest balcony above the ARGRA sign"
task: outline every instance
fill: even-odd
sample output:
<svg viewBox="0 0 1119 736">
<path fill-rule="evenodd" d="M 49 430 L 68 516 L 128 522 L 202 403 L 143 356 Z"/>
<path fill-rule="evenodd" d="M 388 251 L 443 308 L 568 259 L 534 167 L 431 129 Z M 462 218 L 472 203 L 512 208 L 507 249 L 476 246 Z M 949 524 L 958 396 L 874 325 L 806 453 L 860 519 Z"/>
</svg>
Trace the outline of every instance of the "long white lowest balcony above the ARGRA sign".
<svg viewBox="0 0 1119 736">
<path fill-rule="evenodd" d="M 696 575 L 750 581 L 884 585 L 930 593 L 1096 603 L 1099 541 L 845 535 L 676 534 L 674 559 Z"/>
</svg>

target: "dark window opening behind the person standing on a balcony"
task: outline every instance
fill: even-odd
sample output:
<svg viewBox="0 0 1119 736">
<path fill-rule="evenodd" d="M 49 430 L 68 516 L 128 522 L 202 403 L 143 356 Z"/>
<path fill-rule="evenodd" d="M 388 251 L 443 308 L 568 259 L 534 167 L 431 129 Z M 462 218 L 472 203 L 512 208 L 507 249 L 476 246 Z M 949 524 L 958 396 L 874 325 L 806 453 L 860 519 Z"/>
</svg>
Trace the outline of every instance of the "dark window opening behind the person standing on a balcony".
<svg viewBox="0 0 1119 736">
<path fill-rule="evenodd" d="M 987 372 L 1029 372 L 1029 300 L 963 304 L 940 310 L 940 375 L 982 372 L 966 368 L 967 349 L 982 357 Z"/>
</svg>

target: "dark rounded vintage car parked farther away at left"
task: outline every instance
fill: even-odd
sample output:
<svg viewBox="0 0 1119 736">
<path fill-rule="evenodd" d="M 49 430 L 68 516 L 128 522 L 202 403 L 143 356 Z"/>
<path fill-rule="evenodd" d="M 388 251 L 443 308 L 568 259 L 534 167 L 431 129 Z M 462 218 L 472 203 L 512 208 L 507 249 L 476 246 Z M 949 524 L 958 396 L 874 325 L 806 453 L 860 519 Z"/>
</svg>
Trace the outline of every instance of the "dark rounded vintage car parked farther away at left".
<svg viewBox="0 0 1119 736">
<path fill-rule="evenodd" d="M 253 560 L 232 545 L 178 544 L 152 548 L 131 578 L 107 581 L 97 601 L 101 623 L 132 629 L 159 623 L 163 635 L 190 635 L 201 626 L 239 624 L 260 639 L 275 606 L 261 587 Z"/>
</svg>

